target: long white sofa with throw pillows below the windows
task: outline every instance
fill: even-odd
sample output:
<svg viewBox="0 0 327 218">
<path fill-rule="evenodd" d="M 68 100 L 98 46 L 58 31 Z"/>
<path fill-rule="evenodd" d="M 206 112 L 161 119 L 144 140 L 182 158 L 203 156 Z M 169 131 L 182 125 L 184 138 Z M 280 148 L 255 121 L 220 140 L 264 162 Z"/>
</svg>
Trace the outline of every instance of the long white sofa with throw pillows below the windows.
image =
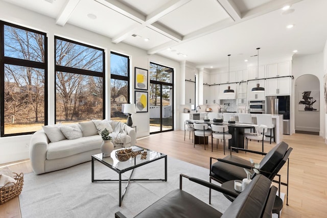
<svg viewBox="0 0 327 218">
<path fill-rule="evenodd" d="M 120 122 L 106 121 L 112 127 L 113 132 L 110 134 L 117 139 L 114 141 L 113 138 L 114 143 L 122 142 L 124 147 L 135 145 L 136 133 L 133 128 Z M 104 120 L 99 120 L 99 122 L 104 122 Z M 30 159 L 35 174 L 57 171 L 58 169 L 90 161 L 91 155 L 101 153 L 102 138 L 98 134 L 99 129 L 97 129 L 93 121 L 74 125 L 44 126 L 42 130 L 32 135 Z M 78 128 L 81 131 L 77 130 Z M 63 129 L 69 131 L 60 132 Z M 119 135 L 122 137 L 119 137 Z M 119 141 L 121 138 L 124 141 Z"/>
</svg>

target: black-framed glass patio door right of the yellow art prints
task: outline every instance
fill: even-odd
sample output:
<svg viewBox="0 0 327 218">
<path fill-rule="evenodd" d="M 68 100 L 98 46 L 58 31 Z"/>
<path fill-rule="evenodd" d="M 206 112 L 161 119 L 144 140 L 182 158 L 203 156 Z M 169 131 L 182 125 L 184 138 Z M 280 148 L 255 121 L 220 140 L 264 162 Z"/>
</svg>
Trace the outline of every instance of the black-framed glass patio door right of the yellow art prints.
<svg viewBox="0 0 327 218">
<path fill-rule="evenodd" d="M 150 63 L 150 134 L 174 129 L 174 69 Z"/>
</svg>

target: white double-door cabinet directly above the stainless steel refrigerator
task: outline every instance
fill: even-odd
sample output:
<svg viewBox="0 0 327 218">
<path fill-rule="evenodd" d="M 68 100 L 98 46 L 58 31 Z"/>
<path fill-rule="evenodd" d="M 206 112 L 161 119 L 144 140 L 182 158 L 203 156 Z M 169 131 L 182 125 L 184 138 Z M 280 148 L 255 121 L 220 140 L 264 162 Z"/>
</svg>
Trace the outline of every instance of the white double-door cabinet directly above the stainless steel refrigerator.
<svg viewBox="0 0 327 218">
<path fill-rule="evenodd" d="M 290 95 L 291 78 L 281 77 L 266 79 L 266 95 Z"/>
</svg>

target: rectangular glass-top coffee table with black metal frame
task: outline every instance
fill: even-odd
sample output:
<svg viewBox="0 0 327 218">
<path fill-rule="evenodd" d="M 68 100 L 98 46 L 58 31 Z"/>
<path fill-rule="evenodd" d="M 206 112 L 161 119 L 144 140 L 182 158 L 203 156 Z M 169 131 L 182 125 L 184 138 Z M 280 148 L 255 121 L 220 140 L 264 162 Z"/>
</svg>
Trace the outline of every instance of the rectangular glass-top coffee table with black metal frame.
<svg viewBox="0 0 327 218">
<path fill-rule="evenodd" d="M 124 148 L 123 148 L 124 149 Z M 113 150 L 111 152 L 110 157 L 103 157 L 103 154 L 96 154 L 92 155 L 92 182 L 112 182 L 112 181 L 118 181 L 119 182 L 119 206 L 122 205 L 123 198 L 125 196 L 126 190 L 128 188 L 128 185 L 130 181 L 165 181 L 167 182 L 167 155 L 162 154 L 160 152 L 155 152 L 151 151 L 149 149 L 145 149 L 139 146 L 132 146 L 128 149 L 132 149 L 132 152 L 138 152 L 138 153 L 144 153 L 146 152 L 145 155 L 136 155 L 135 157 L 129 158 L 127 161 L 119 161 L 115 157 L 115 152 L 118 150 L 123 150 L 123 149 L 117 149 Z M 151 163 L 156 160 L 160 160 L 162 158 L 165 158 L 165 179 L 132 179 L 132 175 L 134 172 L 134 169 L 146 165 L 148 163 Z M 105 166 L 109 167 L 113 171 L 119 174 L 119 179 L 95 179 L 94 178 L 94 161 L 99 161 L 100 163 L 104 164 Z M 132 171 L 130 177 L 128 179 L 122 179 L 122 174 L 127 172 L 127 171 Z M 127 184 L 125 186 L 124 192 L 122 194 L 122 181 L 127 181 Z"/>
</svg>

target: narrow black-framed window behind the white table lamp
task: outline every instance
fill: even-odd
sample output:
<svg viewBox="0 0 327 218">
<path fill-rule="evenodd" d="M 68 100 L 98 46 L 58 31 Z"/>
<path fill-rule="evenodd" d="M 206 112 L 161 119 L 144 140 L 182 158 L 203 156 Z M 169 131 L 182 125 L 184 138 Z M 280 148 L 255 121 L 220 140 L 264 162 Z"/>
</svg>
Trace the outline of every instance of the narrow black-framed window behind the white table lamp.
<svg viewBox="0 0 327 218">
<path fill-rule="evenodd" d="M 110 119 L 126 123 L 122 105 L 129 102 L 129 57 L 110 54 Z"/>
</svg>

